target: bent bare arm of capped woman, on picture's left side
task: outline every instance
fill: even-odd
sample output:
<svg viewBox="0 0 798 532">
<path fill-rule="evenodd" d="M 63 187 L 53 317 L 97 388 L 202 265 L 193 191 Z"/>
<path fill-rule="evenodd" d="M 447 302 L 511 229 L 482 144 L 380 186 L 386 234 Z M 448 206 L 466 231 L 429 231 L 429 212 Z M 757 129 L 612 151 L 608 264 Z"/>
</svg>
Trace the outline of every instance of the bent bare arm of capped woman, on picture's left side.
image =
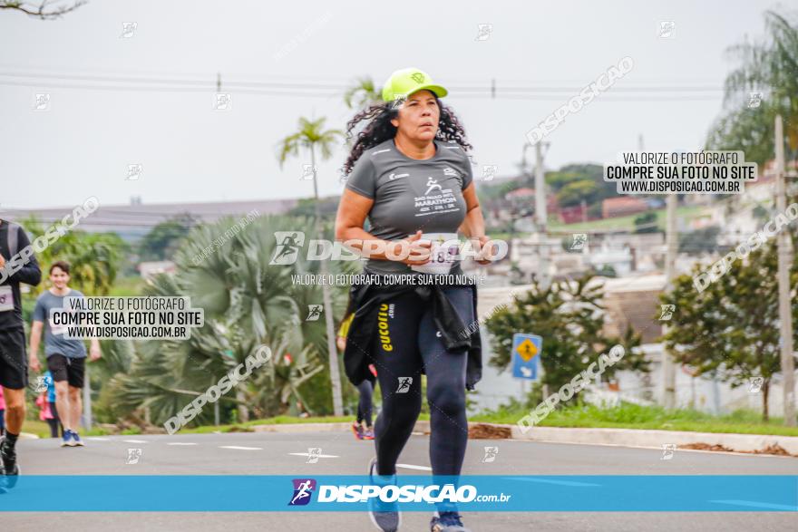
<svg viewBox="0 0 798 532">
<path fill-rule="evenodd" d="M 365 217 L 374 205 L 374 200 L 361 196 L 350 189 L 344 189 L 341 202 L 338 204 L 338 214 L 336 216 L 336 240 L 344 242 L 346 247 L 353 248 L 361 253 L 362 256 L 375 258 L 378 260 L 397 260 L 389 258 L 387 251 L 391 250 L 392 256 L 404 256 L 403 262 L 406 265 L 423 265 L 430 260 L 430 246 L 428 240 L 422 240 L 421 231 L 413 237 L 404 238 L 403 242 L 383 240 L 366 232 L 363 228 Z"/>
</svg>

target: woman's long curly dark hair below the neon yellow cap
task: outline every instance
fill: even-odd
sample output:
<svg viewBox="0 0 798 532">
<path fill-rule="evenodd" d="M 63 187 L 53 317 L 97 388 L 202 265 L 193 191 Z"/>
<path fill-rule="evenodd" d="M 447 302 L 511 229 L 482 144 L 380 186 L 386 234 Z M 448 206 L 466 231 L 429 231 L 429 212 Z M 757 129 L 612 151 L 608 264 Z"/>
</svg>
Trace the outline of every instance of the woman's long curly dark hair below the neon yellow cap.
<svg viewBox="0 0 798 532">
<path fill-rule="evenodd" d="M 457 120 L 454 112 L 443 105 L 437 96 L 435 96 L 435 102 L 438 104 L 438 109 L 441 110 L 435 139 L 454 141 L 462 147 L 462 150 L 473 150 L 473 146 L 465 139 L 465 130 L 462 129 L 462 124 Z M 348 176 L 352 169 L 355 168 L 355 162 L 360 159 L 365 150 L 374 148 L 377 144 L 393 139 L 396 136 L 396 128 L 391 123 L 391 120 L 396 118 L 398 113 L 399 110 L 394 105 L 394 102 L 379 103 L 358 112 L 346 124 L 346 139 L 351 141 L 355 138 L 353 131 L 355 131 L 357 124 L 362 121 L 368 121 L 363 131 L 357 133 L 357 140 L 352 145 L 352 150 L 349 151 L 349 157 L 346 159 L 342 169 L 345 176 Z"/>
</svg>

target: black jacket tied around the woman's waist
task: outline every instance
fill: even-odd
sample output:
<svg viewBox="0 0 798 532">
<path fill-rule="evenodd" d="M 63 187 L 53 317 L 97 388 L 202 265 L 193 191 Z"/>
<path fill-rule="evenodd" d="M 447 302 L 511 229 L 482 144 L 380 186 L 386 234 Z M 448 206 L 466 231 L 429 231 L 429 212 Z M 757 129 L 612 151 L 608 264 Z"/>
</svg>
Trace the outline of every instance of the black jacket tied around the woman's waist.
<svg viewBox="0 0 798 532">
<path fill-rule="evenodd" d="M 364 272 L 369 275 L 371 272 Z M 374 274 L 371 274 L 374 275 Z M 452 286 L 452 285 L 449 285 Z M 463 285 L 472 289 L 473 315 L 477 316 L 477 289 L 473 284 Z M 482 379 L 482 342 L 479 327 L 472 332 L 472 324 L 462 323 L 454 305 L 443 292 L 441 285 L 352 285 L 349 311 L 355 312 L 349 334 L 346 337 L 344 366 L 350 382 L 359 384 L 371 377 L 368 364 L 375 363 L 371 354 L 377 332 L 377 309 L 399 295 L 414 291 L 423 301 L 432 303 L 435 327 L 441 332 L 443 345 L 448 351 L 468 350 L 465 372 L 465 388 L 473 390 Z M 423 370 L 422 370 L 423 372 Z"/>
</svg>

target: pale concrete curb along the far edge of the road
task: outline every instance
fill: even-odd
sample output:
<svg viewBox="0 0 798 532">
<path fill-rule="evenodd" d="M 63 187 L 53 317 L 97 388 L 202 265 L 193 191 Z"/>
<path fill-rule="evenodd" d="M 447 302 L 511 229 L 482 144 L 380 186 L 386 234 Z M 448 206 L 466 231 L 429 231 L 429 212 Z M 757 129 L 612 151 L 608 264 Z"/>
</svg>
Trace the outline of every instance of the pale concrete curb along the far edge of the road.
<svg viewBox="0 0 798 532">
<path fill-rule="evenodd" d="M 663 445 L 676 447 L 705 443 L 721 445 L 727 449 L 741 451 L 765 450 L 775 445 L 790 454 L 798 455 L 798 437 L 775 436 L 768 434 L 737 434 L 724 432 L 688 432 L 683 430 L 640 430 L 640 429 L 589 429 L 569 427 L 531 427 L 522 431 L 518 425 L 500 423 L 470 422 L 469 428 L 476 425 L 502 427 L 511 430 L 511 440 L 546 441 L 550 443 L 580 443 L 620 445 L 623 447 L 646 447 L 661 449 Z M 256 432 L 338 432 L 349 430 L 351 423 L 296 423 L 280 425 L 254 425 Z M 429 432 L 429 421 L 416 421 L 414 432 Z"/>
</svg>

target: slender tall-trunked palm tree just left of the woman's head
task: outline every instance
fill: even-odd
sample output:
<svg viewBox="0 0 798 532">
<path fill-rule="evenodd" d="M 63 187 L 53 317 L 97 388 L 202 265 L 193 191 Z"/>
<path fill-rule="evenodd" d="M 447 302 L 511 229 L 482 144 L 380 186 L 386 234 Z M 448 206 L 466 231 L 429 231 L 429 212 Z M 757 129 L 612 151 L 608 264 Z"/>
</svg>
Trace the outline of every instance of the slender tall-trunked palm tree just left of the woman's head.
<svg viewBox="0 0 798 532">
<path fill-rule="evenodd" d="M 309 121 L 306 118 L 299 119 L 297 132 L 288 135 L 279 143 L 279 154 L 277 159 L 280 161 L 280 168 L 286 163 L 288 156 L 297 157 L 300 150 L 310 151 L 310 164 L 313 170 L 313 196 L 316 199 L 316 235 L 321 238 L 321 214 L 319 212 L 318 184 L 316 176 L 316 149 L 321 150 L 323 160 L 332 156 L 332 147 L 336 139 L 343 138 L 344 132 L 339 130 L 324 130 L 326 119 L 320 118 L 316 121 Z M 319 261 L 321 274 L 326 276 L 326 261 Z M 324 314 L 327 332 L 327 356 L 330 363 L 330 379 L 333 388 L 333 411 L 336 416 L 344 414 L 344 402 L 341 396 L 341 376 L 338 371 L 338 353 L 336 351 L 336 330 L 333 325 L 333 308 L 330 301 L 329 286 L 322 285 L 322 297 L 324 300 Z"/>
</svg>

